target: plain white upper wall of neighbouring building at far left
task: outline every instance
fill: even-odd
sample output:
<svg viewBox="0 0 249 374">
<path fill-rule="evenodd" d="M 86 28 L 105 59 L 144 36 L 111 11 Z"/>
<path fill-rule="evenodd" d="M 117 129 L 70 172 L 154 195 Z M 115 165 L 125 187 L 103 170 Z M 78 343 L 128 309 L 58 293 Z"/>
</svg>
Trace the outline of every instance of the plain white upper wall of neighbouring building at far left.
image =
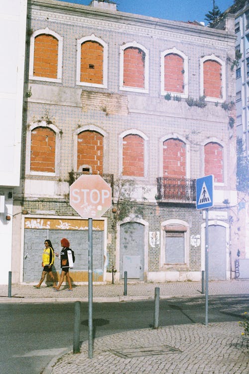
<svg viewBox="0 0 249 374">
<path fill-rule="evenodd" d="M 26 13 L 27 0 L 0 0 L 0 186 L 19 186 Z"/>
</svg>

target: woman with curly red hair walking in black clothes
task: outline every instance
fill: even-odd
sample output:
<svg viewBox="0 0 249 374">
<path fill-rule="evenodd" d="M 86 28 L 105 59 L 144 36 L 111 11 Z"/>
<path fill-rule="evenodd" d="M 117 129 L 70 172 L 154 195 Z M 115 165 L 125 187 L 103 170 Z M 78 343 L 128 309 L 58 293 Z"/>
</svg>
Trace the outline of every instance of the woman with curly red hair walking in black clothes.
<svg viewBox="0 0 249 374">
<path fill-rule="evenodd" d="M 55 291 L 59 291 L 60 286 L 62 285 L 62 282 L 64 280 L 64 277 L 66 275 L 67 281 L 68 281 L 68 291 L 73 291 L 72 283 L 69 275 L 69 268 L 73 267 L 73 263 L 75 260 L 74 257 L 74 251 L 69 248 L 70 243 L 66 238 L 61 239 L 61 246 L 62 250 L 60 253 L 60 259 L 61 259 L 61 277 L 58 286 L 55 288 Z"/>
</svg>

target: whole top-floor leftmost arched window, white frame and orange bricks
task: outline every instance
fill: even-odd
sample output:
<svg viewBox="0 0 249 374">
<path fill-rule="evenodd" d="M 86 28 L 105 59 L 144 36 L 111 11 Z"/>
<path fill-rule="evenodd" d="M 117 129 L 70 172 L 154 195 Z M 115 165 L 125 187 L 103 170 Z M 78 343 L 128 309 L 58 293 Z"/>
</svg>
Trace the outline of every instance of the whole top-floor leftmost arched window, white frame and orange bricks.
<svg viewBox="0 0 249 374">
<path fill-rule="evenodd" d="M 30 40 L 29 79 L 61 82 L 62 37 L 48 28 L 35 31 Z"/>
</svg>

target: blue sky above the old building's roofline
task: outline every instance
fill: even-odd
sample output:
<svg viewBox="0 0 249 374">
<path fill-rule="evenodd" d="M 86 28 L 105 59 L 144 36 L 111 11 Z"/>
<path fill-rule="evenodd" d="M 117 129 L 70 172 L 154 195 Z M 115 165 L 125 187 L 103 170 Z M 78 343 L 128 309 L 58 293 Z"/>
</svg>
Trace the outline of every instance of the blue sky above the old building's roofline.
<svg viewBox="0 0 249 374">
<path fill-rule="evenodd" d="M 60 0 L 89 5 L 91 0 Z M 113 0 L 117 8 L 127 13 L 176 21 L 205 21 L 205 14 L 213 8 L 213 0 Z M 233 0 L 216 0 L 221 11 L 231 6 Z M 205 21 L 207 24 L 207 21 Z"/>
</svg>

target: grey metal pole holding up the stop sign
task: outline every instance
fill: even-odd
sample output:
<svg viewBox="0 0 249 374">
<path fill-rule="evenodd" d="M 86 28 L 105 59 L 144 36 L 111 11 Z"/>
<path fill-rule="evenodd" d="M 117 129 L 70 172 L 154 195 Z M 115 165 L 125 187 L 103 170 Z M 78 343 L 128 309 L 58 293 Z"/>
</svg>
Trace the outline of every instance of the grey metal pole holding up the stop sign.
<svg viewBox="0 0 249 374">
<path fill-rule="evenodd" d="M 88 358 L 93 358 L 93 218 L 88 218 Z"/>
</svg>

